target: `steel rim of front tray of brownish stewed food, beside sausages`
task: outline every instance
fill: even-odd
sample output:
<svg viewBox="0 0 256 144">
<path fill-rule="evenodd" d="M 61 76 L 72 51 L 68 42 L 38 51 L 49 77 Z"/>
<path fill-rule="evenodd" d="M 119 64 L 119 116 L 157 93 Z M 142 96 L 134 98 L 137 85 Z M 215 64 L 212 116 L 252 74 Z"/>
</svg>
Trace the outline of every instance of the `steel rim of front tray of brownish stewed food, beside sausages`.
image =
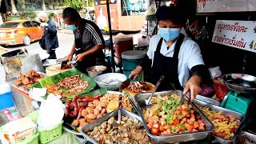
<svg viewBox="0 0 256 144">
<path fill-rule="evenodd" d="M 130 113 L 128 110 L 121 110 L 121 114 L 123 116 L 129 117 L 129 118 L 137 118 L 139 122 L 142 122 L 142 118 L 140 118 L 138 115 Z M 80 131 L 80 133 L 83 135 L 83 137 L 90 143 L 94 143 L 94 144 L 98 144 L 98 142 L 94 141 L 93 138 L 90 138 L 86 133 L 88 133 L 89 131 L 94 130 L 94 127 L 96 126 L 100 126 L 102 124 L 102 122 L 105 122 L 107 120 L 109 120 L 111 117 L 117 117 L 118 116 L 118 109 L 112 111 L 109 114 L 104 115 L 102 118 L 98 118 L 96 119 L 94 122 L 90 122 L 89 124 L 87 124 L 86 126 L 82 126 L 82 129 Z"/>
</svg>

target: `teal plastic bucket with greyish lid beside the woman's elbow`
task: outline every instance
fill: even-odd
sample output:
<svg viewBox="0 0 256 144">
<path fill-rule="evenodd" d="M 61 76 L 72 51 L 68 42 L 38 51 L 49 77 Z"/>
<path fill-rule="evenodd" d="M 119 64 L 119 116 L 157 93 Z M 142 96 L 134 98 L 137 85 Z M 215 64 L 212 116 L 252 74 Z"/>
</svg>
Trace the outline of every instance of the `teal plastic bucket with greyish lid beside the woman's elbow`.
<svg viewBox="0 0 256 144">
<path fill-rule="evenodd" d="M 136 69 L 138 63 L 146 55 L 146 51 L 142 50 L 128 50 L 122 53 L 122 67 L 124 74 L 129 78 L 130 72 Z M 134 81 L 142 80 L 142 76 L 136 78 Z M 133 81 L 133 80 L 132 80 Z"/>
</svg>

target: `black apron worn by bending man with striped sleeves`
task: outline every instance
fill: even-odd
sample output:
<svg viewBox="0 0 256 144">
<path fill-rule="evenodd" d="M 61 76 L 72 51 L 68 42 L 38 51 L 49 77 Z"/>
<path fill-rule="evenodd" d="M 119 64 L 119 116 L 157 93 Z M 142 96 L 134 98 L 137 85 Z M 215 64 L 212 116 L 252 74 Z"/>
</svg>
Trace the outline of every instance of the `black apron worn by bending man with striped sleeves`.
<svg viewBox="0 0 256 144">
<path fill-rule="evenodd" d="M 90 50 L 90 48 L 86 49 L 86 44 L 82 43 L 82 34 L 84 31 L 84 27 L 86 22 L 83 22 L 84 26 L 82 26 L 82 33 L 80 33 L 80 38 L 75 38 L 74 39 L 74 44 L 75 44 L 75 55 L 82 54 L 86 52 L 87 50 Z M 100 59 L 102 62 L 97 62 Z M 96 52 L 95 54 L 90 54 L 86 56 L 85 59 L 83 59 L 81 62 L 78 62 L 78 70 L 82 71 L 83 74 L 87 74 L 86 69 L 89 68 L 90 66 L 96 66 L 96 65 L 104 65 L 105 63 L 105 56 L 102 52 L 102 50 Z"/>
</svg>

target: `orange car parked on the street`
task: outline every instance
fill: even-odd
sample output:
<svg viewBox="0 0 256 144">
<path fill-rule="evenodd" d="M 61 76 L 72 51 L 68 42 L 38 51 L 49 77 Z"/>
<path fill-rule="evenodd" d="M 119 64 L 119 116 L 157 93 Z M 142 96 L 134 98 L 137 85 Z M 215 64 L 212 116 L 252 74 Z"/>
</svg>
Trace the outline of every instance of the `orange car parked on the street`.
<svg viewBox="0 0 256 144">
<path fill-rule="evenodd" d="M 0 45 L 30 45 L 42 38 L 43 28 L 40 22 L 17 20 L 4 22 L 0 25 Z"/>
</svg>

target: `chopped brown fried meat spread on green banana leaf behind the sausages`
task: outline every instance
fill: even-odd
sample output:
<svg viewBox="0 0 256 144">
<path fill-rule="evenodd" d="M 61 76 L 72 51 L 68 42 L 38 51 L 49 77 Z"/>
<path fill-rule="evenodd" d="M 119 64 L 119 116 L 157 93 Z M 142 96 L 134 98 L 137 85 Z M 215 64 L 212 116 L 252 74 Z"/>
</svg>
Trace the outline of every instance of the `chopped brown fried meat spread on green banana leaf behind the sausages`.
<svg viewBox="0 0 256 144">
<path fill-rule="evenodd" d="M 55 95 L 61 95 L 62 98 L 66 98 L 66 94 L 75 95 L 81 93 L 83 90 L 89 86 L 89 82 L 83 81 L 79 75 L 74 75 L 70 78 L 66 77 L 62 81 L 58 82 L 57 85 L 46 84 L 46 89 L 48 93 Z M 62 90 L 61 88 L 69 89 Z"/>
</svg>

